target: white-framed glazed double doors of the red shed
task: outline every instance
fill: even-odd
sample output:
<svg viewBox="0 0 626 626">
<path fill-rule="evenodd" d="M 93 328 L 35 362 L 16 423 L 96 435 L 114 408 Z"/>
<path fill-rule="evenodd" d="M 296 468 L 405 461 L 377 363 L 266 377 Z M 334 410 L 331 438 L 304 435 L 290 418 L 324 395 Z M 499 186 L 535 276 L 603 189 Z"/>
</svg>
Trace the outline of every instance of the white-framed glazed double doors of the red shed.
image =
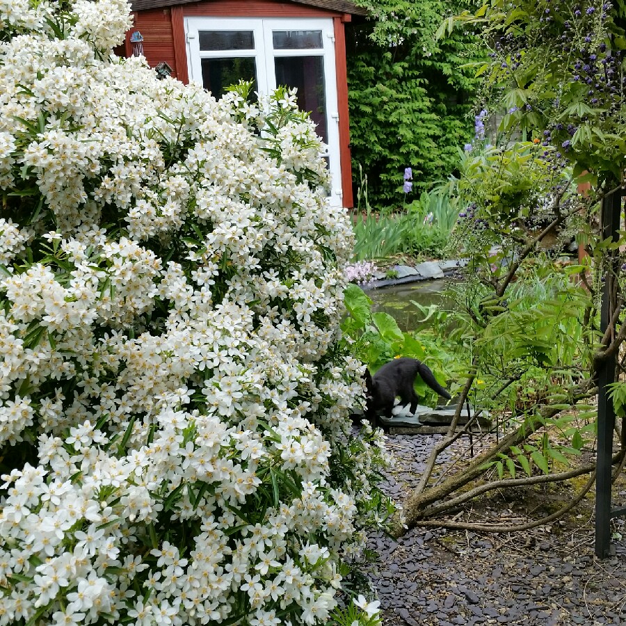
<svg viewBox="0 0 626 626">
<path fill-rule="evenodd" d="M 327 146 L 329 200 L 341 205 L 332 19 L 186 17 L 185 31 L 189 77 L 215 97 L 239 79 L 254 81 L 259 93 L 280 85 L 298 89 L 298 106 L 310 113 Z"/>
</svg>

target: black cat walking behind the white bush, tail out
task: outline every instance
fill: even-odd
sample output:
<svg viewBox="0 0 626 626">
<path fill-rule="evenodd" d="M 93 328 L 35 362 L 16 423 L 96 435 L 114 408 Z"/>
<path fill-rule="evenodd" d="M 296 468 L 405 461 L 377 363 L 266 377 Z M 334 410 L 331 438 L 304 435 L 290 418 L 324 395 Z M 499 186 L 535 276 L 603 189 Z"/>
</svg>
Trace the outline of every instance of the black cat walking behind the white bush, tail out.
<svg viewBox="0 0 626 626">
<path fill-rule="evenodd" d="M 392 409 L 396 396 L 400 396 L 400 403 L 411 405 L 411 413 L 415 413 L 419 399 L 413 389 L 415 376 L 422 376 L 424 383 L 436 391 L 440 396 L 451 399 L 451 395 L 437 382 L 435 375 L 422 361 L 402 357 L 385 363 L 374 376 L 369 369 L 365 371 L 365 386 L 367 387 L 367 405 L 365 417 L 372 425 L 376 425 L 376 415 L 379 412 L 387 419 L 392 419 Z"/>
</svg>

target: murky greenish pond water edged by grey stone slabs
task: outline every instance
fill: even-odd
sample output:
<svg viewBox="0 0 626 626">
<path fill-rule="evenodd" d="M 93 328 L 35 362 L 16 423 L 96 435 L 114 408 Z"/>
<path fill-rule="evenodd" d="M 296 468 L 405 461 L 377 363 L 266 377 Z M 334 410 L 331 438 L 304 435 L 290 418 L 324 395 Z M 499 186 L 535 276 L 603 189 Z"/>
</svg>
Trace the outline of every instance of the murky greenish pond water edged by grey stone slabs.
<svg viewBox="0 0 626 626">
<path fill-rule="evenodd" d="M 417 322 L 423 317 L 417 307 L 411 304 L 411 300 L 426 307 L 431 304 L 446 305 L 449 300 L 444 298 L 442 292 L 447 284 L 449 280 L 445 278 L 424 280 L 398 284 L 394 287 L 369 289 L 367 295 L 374 300 L 372 307 L 374 312 L 390 314 L 400 329 L 407 332 L 415 330 Z"/>
</svg>

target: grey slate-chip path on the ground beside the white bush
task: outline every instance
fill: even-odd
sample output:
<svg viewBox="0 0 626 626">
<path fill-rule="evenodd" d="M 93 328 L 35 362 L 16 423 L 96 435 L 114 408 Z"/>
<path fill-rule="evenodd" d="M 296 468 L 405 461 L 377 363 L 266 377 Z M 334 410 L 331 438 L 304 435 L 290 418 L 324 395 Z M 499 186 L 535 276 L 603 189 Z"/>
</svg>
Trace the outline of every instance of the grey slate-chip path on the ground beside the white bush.
<svg viewBox="0 0 626 626">
<path fill-rule="evenodd" d="M 438 436 L 390 435 L 397 461 L 384 484 L 388 493 L 401 501 L 417 484 Z M 616 556 L 597 561 L 589 507 L 583 511 L 579 524 L 551 532 L 414 529 L 397 542 L 371 538 L 380 555 L 371 580 L 383 623 L 626 625 L 626 527 L 619 527 L 625 538 L 613 542 Z"/>
</svg>

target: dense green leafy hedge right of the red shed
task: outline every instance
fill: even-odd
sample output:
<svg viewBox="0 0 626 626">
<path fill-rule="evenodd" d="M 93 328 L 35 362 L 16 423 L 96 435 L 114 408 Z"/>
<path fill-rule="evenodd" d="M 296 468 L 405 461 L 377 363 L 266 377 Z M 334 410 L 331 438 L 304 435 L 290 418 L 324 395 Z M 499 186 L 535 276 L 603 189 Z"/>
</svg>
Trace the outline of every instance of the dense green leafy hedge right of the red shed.
<svg viewBox="0 0 626 626">
<path fill-rule="evenodd" d="M 403 202 L 404 168 L 414 197 L 456 168 L 458 146 L 473 134 L 478 40 L 454 30 L 435 41 L 451 0 L 358 0 L 368 22 L 348 25 L 348 88 L 354 163 L 369 181 L 375 208 Z M 412 198 L 409 198 L 412 200 Z"/>
</svg>

